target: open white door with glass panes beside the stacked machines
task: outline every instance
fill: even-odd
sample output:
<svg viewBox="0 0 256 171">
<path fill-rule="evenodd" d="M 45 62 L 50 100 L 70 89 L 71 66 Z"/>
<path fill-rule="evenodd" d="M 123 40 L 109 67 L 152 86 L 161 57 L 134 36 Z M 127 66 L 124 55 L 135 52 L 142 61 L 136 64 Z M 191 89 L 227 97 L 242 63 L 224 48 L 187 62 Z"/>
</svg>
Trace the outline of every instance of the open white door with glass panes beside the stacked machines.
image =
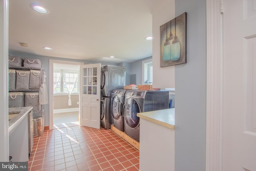
<svg viewBox="0 0 256 171">
<path fill-rule="evenodd" d="M 100 64 L 80 67 L 80 125 L 100 129 Z"/>
</svg>

